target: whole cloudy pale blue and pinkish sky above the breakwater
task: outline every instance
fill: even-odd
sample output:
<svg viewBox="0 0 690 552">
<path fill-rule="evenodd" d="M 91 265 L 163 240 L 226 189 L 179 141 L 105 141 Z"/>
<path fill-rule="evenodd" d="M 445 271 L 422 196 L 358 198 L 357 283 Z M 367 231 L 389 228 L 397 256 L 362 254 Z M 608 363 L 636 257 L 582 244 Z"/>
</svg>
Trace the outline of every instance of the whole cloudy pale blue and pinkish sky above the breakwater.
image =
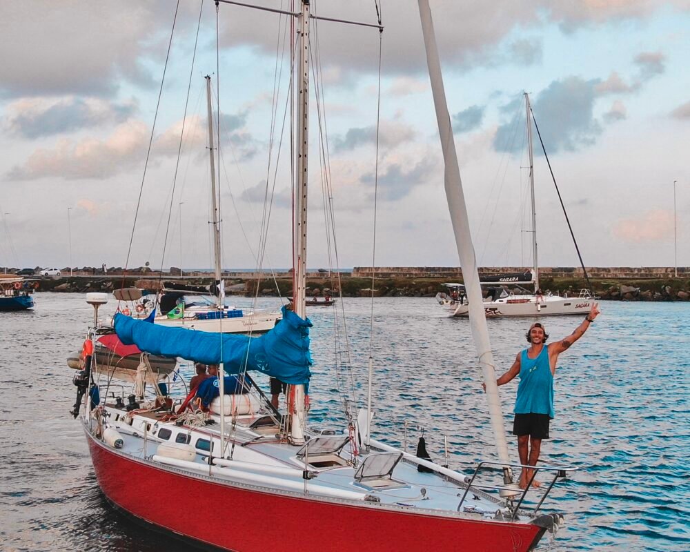
<svg viewBox="0 0 690 552">
<path fill-rule="evenodd" d="M 458 266 L 417 3 L 377 4 L 381 36 L 311 21 L 308 266 Z M 673 266 L 675 219 L 690 265 L 690 0 L 431 10 L 480 266 L 532 263 L 523 92 L 584 263 Z M 312 13 L 376 23 L 377 6 Z M 0 3 L 0 266 L 212 266 L 205 75 L 222 264 L 291 266 L 290 21 L 208 0 Z M 533 133 L 539 263 L 577 266 Z"/>
</svg>

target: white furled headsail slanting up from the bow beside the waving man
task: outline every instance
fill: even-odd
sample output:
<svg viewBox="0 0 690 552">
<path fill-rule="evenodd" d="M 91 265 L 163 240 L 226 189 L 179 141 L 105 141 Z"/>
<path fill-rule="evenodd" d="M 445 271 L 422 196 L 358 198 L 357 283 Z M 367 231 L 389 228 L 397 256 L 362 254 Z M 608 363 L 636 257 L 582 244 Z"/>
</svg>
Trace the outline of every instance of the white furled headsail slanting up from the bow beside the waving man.
<svg viewBox="0 0 690 552">
<path fill-rule="evenodd" d="M 470 235 L 469 219 L 467 217 L 467 207 L 462 192 L 462 181 L 460 180 L 460 168 L 457 166 L 457 153 L 455 152 L 455 141 L 453 140 L 453 128 L 451 128 L 451 117 L 446 103 L 446 93 L 443 88 L 443 78 L 441 75 L 441 64 L 438 57 L 438 49 L 431 20 L 431 10 L 428 0 L 418 0 L 420 7 L 420 18 L 422 19 L 422 31 L 424 32 L 424 46 L 426 47 L 426 63 L 428 65 L 429 78 L 431 79 L 431 90 L 433 101 L 436 108 L 436 119 L 438 130 L 441 137 L 441 147 L 445 164 L 444 183 L 446 188 L 446 199 L 451 211 L 451 223 L 455 233 L 455 244 L 457 254 L 460 257 L 462 266 L 462 277 L 467 290 L 469 300 L 469 319 L 472 329 L 479 363 L 486 384 L 486 400 L 489 402 L 489 415 L 491 417 L 491 427 L 495 437 L 496 450 L 501 462 L 509 464 L 508 445 L 506 444 L 506 434 L 504 429 L 501 404 L 498 397 L 498 386 L 496 385 L 496 375 L 493 369 L 493 353 L 491 353 L 491 343 L 489 342 L 489 329 L 486 327 L 486 314 L 482 297 L 482 288 L 479 283 L 479 273 L 477 272 L 477 260 L 472 245 Z M 511 482 L 510 469 L 504 468 L 504 480 Z"/>
</svg>

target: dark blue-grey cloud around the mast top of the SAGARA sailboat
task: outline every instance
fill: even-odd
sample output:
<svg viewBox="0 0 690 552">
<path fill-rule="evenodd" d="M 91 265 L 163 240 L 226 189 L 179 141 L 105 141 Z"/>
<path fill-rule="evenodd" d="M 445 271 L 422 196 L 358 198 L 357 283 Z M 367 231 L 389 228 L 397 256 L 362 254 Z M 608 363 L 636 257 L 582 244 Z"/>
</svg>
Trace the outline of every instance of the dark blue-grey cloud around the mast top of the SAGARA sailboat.
<svg viewBox="0 0 690 552">
<path fill-rule="evenodd" d="M 574 151 L 582 146 L 589 146 L 602 133 L 601 125 L 593 117 L 597 84 L 596 80 L 585 81 L 581 77 L 566 77 L 560 81 L 553 81 L 532 102 L 535 119 L 549 153 L 560 150 Z M 515 110 L 515 100 L 509 106 L 511 110 Z M 513 150 L 515 122 L 513 119 L 497 128 L 493 141 L 495 150 Z M 540 148 L 535 148 L 535 152 L 539 151 Z"/>
</svg>

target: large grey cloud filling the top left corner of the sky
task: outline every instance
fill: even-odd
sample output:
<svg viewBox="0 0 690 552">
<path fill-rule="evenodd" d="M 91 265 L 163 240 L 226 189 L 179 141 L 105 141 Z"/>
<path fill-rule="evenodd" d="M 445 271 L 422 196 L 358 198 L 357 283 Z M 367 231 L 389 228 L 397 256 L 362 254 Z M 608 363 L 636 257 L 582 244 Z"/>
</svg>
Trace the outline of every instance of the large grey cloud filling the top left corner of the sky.
<svg viewBox="0 0 690 552">
<path fill-rule="evenodd" d="M 198 11 L 184 4 L 180 20 Z M 167 2 L 3 3 L 0 97 L 112 97 L 124 82 L 153 86 L 145 61 L 165 55 L 157 41 L 169 37 L 174 12 Z"/>
</svg>

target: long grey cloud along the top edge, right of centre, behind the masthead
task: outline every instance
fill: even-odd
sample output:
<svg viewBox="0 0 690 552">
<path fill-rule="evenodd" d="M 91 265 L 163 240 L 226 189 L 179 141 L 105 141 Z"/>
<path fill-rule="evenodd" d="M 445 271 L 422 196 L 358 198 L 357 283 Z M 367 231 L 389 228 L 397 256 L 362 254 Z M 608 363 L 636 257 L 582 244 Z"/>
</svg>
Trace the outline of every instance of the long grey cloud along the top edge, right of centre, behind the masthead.
<svg viewBox="0 0 690 552">
<path fill-rule="evenodd" d="M 273 7 L 275 2 L 256 0 L 255 3 Z M 687 6 L 687 0 L 671 0 L 671 6 L 682 9 Z M 242 17 L 222 17 L 223 8 L 221 45 L 224 48 L 250 45 L 258 54 L 275 56 L 275 27 L 262 23 L 263 14 L 248 10 Z M 574 32 L 585 26 L 642 20 L 664 9 L 668 9 L 667 3 L 656 0 L 439 1 L 433 5 L 433 22 L 444 68 L 468 70 L 495 63 L 539 63 L 540 43 L 536 39 L 515 40 L 517 32 L 549 23 L 555 23 L 565 32 Z M 312 12 L 322 17 L 376 21 L 375 10 L 368 0 L 315 3 Z M 384 6 L 382 16 L 386 26 L 383 35 L 386 75 L 411 76 L 426 70 L 419 13 L 414 3 L 395 4 L 388 10 Z M 353 74 L 377 72 L 379 41 L 375 30 L 315 21 L 312 32 L 319 33 L 322 67 L 330 71 L 331 81 L 350 81 Z M 347 48 L 342 47 L 344 40 L 348 42 Z"/>
</svg>

